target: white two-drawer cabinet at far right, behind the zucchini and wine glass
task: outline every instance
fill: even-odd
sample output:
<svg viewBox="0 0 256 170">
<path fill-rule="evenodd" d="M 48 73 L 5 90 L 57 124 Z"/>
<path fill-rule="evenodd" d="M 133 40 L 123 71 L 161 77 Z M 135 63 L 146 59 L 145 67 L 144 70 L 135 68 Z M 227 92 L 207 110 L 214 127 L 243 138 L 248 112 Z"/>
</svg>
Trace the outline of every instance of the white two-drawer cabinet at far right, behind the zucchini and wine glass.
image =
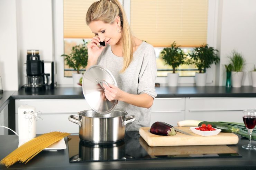
<svg viewBox="0 0 256 170">
<path fill-rule="evenodd" d="M 243 123 L 245 109 L 256 109 L 256 98 L 186 98 L 185 120 Z"/>
</svg>

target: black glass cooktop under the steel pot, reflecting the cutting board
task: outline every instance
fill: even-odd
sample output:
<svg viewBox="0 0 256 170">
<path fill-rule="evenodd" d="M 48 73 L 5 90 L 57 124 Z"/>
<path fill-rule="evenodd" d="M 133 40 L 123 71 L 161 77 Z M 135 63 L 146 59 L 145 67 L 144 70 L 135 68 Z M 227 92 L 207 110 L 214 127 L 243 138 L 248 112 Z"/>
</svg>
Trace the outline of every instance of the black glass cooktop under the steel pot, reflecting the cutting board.
<svg viewBox="0 0 256 170">
<path fill-rule="evenodd" d="M 126 132 L 123 142 L 112 145 L 83 143 L 70 135 L 68 152 L 70 162 L 241 157 L 227 145 L 150 147 L 137 131 Z"/>
</svg>

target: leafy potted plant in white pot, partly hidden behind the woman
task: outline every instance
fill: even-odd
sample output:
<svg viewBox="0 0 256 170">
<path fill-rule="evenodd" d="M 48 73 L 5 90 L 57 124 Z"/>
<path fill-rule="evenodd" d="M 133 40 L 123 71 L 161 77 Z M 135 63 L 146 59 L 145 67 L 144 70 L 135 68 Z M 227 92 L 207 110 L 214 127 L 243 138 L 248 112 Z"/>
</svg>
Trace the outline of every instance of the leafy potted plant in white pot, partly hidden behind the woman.
<svg viewBox="0 0 256 170">
<path fill-rule="evenodd" d="M 85 42 L 83 39 L 83 44 L 72 47 L 72 51 L 69 55 L 61 55 L 64 56 L 66 64 L 76 70 L 76 73 L 72 73 L 74 87 L 81 87 L 77 84 L 79 83 L 80 78 L 83 77 L 83 74 L 81 74 L 80 70 L 87 66 L 88 50 L 86 44 L 87 42 Z"/>
</svg>

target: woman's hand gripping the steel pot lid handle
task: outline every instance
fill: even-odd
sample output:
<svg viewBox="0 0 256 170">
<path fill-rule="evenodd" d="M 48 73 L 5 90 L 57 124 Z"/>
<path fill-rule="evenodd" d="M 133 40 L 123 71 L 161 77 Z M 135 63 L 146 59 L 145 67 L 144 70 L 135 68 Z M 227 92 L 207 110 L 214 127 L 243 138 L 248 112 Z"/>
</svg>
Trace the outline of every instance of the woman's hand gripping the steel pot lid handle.
<svg viewBox="0 0 256 170">
<path fill-rule="evenodd" d="M 118 87 L 109 84 L 110 87 L 108 87 L 106 84 L 103 83 L 105 96 L 109 101 L 112 100 L 120 100 L 122 98 L 122 95 L 124 91 L 120 90 Z"/>
</svg>

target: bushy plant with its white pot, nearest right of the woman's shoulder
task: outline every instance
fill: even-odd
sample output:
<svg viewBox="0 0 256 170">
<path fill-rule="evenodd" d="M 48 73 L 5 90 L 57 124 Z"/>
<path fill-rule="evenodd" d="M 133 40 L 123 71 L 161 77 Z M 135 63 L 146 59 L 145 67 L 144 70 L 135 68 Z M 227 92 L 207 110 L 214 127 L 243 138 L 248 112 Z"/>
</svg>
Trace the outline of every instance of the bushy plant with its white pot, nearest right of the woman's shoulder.
<svg viewBox="0 0 256 170">
<path fill-rule="evenodd" d="M 176 87 L 179 80 L 179 73 L 176 73 L 176 69 L 185 63 L 185 54 L 180 49 L 180 46 L 176 46 L 175 41 L 171 44 L 171 47 L 166 47 L 161 51 L 162 59 L 165 64 L 172 66 L 173 72 L 167 74 L 168 86 Z"/>
</svg>

